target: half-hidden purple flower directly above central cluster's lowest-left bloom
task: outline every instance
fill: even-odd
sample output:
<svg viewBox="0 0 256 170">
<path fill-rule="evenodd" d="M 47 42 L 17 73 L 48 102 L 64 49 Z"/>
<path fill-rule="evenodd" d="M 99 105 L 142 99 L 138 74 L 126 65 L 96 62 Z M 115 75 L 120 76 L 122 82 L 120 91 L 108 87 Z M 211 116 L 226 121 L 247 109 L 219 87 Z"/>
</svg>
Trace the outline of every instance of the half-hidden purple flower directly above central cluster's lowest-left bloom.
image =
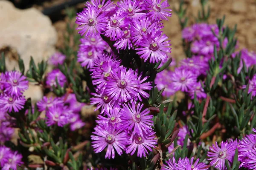
<svg viewBox="0 0 256 170">
<path fill-rule="evenodd" d="M 119 107 L 110 107 L 109 111 L 105 111 L 107 118 L 103 117 L 102 115 L 98 115 L 98 124 L 105 124 L 108 123 L 109 125 L 116 125 L 119 127 L 122 124 L 122 120 L 120 118 L 120 108 Z"/>
</svg>

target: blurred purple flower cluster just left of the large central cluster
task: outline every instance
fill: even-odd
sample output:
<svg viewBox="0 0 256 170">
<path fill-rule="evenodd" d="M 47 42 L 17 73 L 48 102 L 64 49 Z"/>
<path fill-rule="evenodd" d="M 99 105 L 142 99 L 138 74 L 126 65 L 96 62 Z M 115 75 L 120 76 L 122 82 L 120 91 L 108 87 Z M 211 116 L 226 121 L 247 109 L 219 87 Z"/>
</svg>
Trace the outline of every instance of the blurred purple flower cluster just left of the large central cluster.
<svg viewBox="0 0 256 170">
<path fill-rule="evenodd" d="M 44 96 L 37 103 L 38 110 L 45 111 L 47 126 L 58 125 L 63 127 L 70 124 L 72 131 L 85 125 L 79 115 L 83 105 L 76 101 L 75 94 L 67 94 L 67 96 L 61 98 L 47 98 Z"/>
</svg>

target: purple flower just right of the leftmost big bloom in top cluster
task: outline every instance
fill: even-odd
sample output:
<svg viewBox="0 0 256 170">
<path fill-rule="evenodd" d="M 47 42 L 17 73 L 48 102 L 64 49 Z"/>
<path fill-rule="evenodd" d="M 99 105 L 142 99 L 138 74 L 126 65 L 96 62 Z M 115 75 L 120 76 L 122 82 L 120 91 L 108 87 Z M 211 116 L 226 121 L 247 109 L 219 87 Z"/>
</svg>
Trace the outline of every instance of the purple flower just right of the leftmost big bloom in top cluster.
<svg viewBox="0 0 256 170">
<path fill-rule="evenodd" d="M 116 12 L 108 20 L 108 26 L 105 31 L 105 36 L 110 37 L 111 40 L 117 40 L 122 37 L 123 32 L 120 27 L 124 26 L 125 17 L 122 15 L 121 11 Z"/>
</svg>

